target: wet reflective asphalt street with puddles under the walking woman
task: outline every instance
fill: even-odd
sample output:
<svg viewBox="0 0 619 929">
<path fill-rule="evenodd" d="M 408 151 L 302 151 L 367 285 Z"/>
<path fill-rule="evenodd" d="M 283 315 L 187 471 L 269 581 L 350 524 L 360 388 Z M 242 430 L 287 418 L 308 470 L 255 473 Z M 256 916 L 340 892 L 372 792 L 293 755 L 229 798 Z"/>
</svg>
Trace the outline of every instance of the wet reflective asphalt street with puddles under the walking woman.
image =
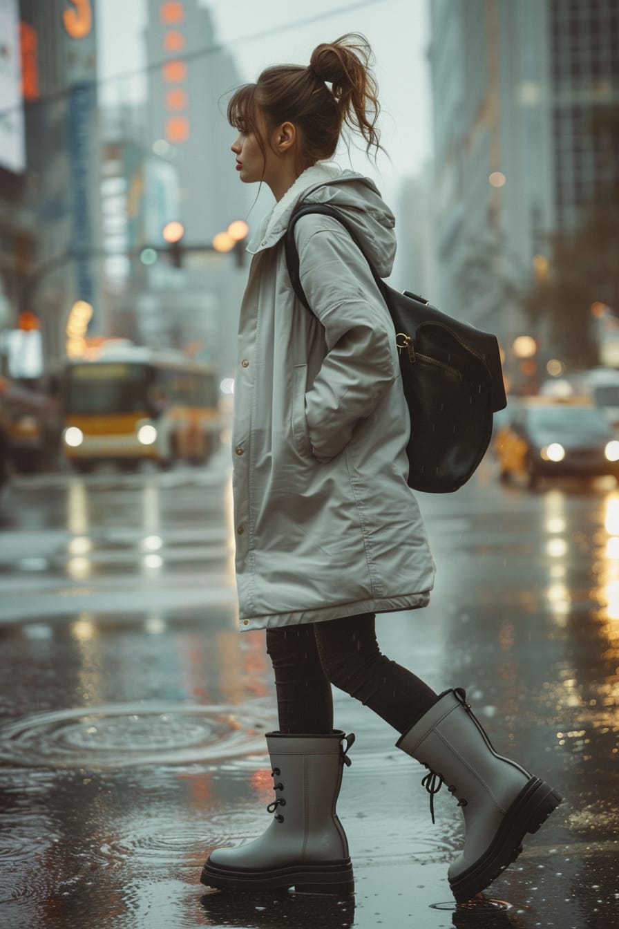
<svg viewBox="0 0 619 929">
<path fill-rule="evenodd" d="M 3 929 L 584 929 L 619 918 L 619 492 L 420 495 L 432 605 L 380 644 L 460 686 L 496 750 L 565 801 L 483 899 L 456 908 L 461 814 L 336 692 L 356 734 L 339 813 L 355 897 L 208 892 L 202 863 L 270 821 L 264 633 L 237 631 L 226 455 L 204 469 L 17 478 L 0 496 Z"/>
</svg>

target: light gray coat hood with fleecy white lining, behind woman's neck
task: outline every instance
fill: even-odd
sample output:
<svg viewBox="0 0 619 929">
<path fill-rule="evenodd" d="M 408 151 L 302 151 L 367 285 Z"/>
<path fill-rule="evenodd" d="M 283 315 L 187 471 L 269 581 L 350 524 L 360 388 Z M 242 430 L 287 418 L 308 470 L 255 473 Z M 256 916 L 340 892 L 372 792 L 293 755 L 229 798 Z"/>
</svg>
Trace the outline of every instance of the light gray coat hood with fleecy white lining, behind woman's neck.
<svg viewBox="0 0 619 929">
<path fill-rule="evenodd" d="M 393 213 L 369 177 L 326 162 L 318 162 L 303 171 L 264 217 L 247 249 L 251 255 L 279 242 L 300 200 L 304 203 L 329 203 L 341 210 L 355 229 L 380 277 L 391 274 L 396 247 Z"/>
</svg>

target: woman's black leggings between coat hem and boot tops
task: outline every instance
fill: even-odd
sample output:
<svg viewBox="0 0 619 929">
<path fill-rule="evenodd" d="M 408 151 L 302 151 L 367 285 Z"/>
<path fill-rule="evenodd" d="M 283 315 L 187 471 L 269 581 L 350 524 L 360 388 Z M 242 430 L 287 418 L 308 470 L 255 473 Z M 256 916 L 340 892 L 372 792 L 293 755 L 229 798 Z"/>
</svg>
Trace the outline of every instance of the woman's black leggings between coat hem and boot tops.
<svg viewBox="0 0 619 929">
<path fill-rule="evenodd" d="M 333 730 L 331 684 L 401 733 L 438 699 L 380 652 L 374 613 L 267 629 L 266 650 L 275 671 L 279 731 L 288 735 Z"/>
</svg>

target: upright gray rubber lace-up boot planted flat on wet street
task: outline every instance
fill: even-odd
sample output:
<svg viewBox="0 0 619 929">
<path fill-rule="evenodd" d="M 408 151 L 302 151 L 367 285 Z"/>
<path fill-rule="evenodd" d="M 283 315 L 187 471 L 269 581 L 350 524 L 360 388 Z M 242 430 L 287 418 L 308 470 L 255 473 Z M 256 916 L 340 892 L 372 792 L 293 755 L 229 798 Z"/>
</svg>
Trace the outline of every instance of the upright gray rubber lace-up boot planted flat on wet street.
<svg viewBox="0 0 619 929">
<path fill-rule="evenodd" d="M 253 842 L 215 849 L 201 883 L 231 890 L 294 886 L 305 893 L 352 894 L 353 867 L 335 805 L 354 741 L 341 731 L 329 736 L 268 732 L 277 799 L 267 808 L 275 816 Z"/>
</svg>

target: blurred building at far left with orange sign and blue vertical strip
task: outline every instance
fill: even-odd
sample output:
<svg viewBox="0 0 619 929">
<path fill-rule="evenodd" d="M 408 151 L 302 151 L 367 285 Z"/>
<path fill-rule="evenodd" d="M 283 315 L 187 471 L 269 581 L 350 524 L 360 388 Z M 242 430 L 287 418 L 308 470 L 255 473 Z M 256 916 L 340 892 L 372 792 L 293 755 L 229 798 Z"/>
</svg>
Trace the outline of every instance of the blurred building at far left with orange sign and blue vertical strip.
<svg viewBox="0 0 619 929">
<path fill-rule="evenodd" d="M 43 335 L 45 363 L 55 367 L 77 300 L 95 307 L 91 331 L 104 327 L 92 257 L 100 229 L 93 5 L 1 0 L 0 33 L 0 325 L 19 332 L 19 319 L 34 313 L 30 331 Z"/>
</svg>

